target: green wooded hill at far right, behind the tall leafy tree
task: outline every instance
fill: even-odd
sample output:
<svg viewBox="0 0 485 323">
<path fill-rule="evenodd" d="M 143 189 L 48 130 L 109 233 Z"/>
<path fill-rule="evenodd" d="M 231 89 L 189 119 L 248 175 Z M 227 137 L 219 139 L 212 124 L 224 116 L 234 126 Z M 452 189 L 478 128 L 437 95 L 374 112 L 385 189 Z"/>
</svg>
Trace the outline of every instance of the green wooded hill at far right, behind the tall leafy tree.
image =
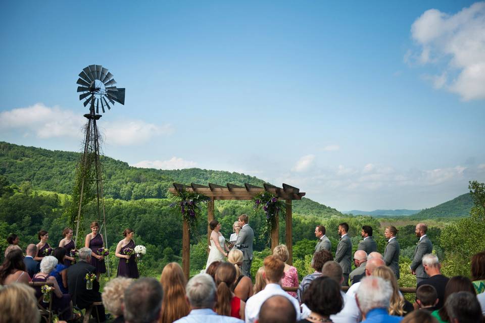
<svg viewBox="0 0 485 323">
<path fill-rule="evenodd" d="M 473 207 L 473 200 L 470 193 L 455 197 L 454 199 L 440 205 L 425 208 L 413 214 L 413 219 L 434 219 L 434 218 L 455 218 L 467 217 Z"/>
</svg>

